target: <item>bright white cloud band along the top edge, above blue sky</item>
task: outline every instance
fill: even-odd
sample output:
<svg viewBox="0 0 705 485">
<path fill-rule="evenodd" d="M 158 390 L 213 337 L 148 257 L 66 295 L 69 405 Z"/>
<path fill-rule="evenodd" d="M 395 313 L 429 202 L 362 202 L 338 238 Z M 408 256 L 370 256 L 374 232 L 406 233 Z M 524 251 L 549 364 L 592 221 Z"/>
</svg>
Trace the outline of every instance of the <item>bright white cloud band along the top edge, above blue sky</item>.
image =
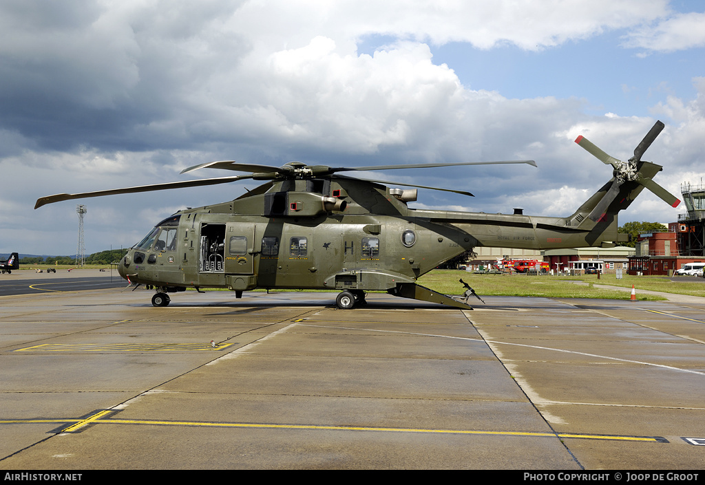
<svg viewBox="0 0 705 485">
<path fill-rule="evenodd" d="M 336 42 L 387 35 L 436 45 L 470 42 L 490 49 L 513 44 L 537 50 L 655 20 L 667 13 L 667 6 L 666 0 L 651 1 L 649 8 L 635 0 L 269 1 L 247 2 L 231 21 L 268 49 L 307 42 L 307 32 L 315 25 L 317 32 Z M 297 22 L 291 23 L 292 18 Z"/>
</svg>

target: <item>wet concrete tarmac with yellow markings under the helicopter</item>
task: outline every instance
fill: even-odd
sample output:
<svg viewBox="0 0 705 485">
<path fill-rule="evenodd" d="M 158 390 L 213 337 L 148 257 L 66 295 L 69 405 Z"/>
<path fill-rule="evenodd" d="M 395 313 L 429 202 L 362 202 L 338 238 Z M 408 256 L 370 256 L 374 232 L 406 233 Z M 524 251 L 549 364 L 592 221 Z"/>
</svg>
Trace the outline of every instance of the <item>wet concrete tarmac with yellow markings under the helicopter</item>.
<svg viewBox="0 0 705 485">
<path fill-rule="evenodd" d="M 705 467 L 705 298 L 157 308 L 3 276 L 42 292 L 0 296 L 0 469 Z"/>
</svg>

